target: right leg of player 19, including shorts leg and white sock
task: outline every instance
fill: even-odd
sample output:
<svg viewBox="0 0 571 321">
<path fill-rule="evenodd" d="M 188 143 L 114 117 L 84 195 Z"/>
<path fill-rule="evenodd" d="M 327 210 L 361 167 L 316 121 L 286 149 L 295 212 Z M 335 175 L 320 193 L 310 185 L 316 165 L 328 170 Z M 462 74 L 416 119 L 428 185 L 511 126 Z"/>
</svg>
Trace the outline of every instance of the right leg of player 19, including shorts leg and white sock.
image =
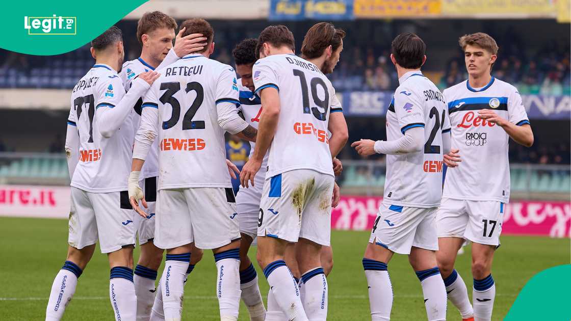
<svg viewBox="0 0 571 321">
<path fill-rule="evenodd" d="M 318 321 L 327 319 L 328 286 L 320 254 L 323 246 L 331 244 L 331 198 L 335 180 L 333 176 L 317 172 L 313 175 L 315 186 L 305 201 L 296 255 L 301 272 L 301 302 L 307 317 Z"/>
</svg>

